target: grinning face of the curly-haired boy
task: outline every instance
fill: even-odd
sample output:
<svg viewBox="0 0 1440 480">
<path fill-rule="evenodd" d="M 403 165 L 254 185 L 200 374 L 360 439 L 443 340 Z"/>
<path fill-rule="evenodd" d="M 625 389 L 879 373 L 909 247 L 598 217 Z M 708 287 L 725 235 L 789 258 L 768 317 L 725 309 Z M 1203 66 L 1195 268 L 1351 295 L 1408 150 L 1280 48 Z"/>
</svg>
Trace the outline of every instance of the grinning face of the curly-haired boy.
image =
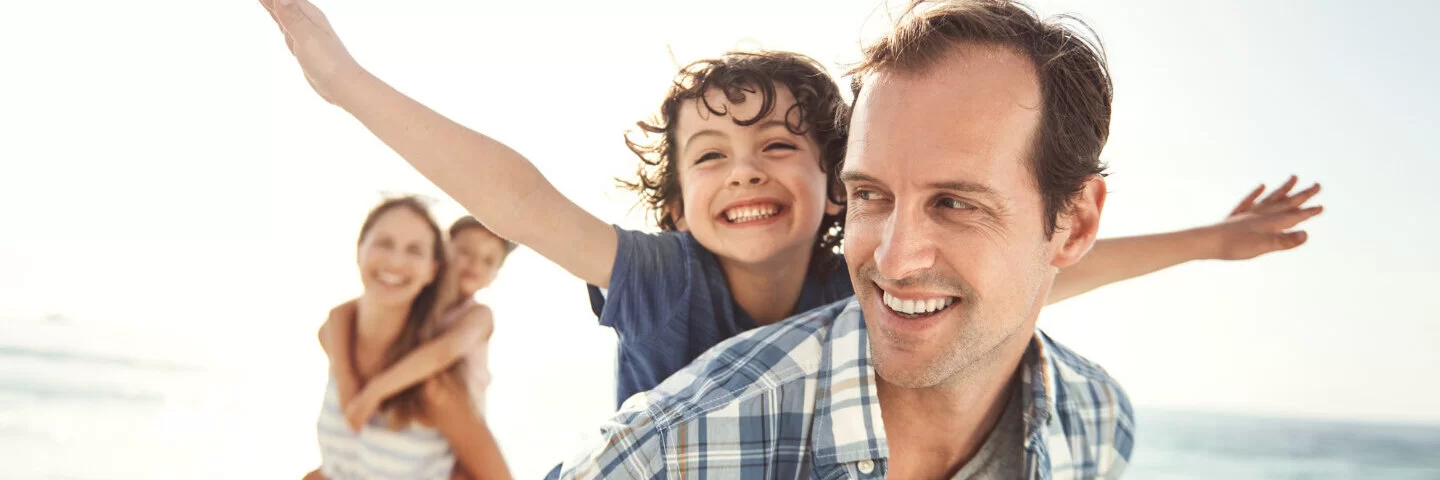
<svg viewBox="0 0 1440 480">
<path fill-rule="evenodd" d="M 739 104 L 714 89 L 706 98 L 729 114 L 711 114 L 697 101 L 680 105 L 675 160 L 684 210 L 677 226 L 716 255 L 747 264 L 808 252 L 827 209 L 838 213 L 840 206 L 827 202 L 819 147 L 786 128 L 795 97 L 776 85 L 769 117 L 752 125 L 734 118 L 753 118 L 759 94 Z"/>
</svg>

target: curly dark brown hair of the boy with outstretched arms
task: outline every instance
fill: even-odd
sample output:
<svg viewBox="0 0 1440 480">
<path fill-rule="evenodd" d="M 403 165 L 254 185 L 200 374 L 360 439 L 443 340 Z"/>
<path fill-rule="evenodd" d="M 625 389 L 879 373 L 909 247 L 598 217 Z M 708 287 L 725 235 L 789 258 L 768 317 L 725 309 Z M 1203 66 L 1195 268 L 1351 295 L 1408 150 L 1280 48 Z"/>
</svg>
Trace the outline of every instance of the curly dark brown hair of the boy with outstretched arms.
<svg viewBox="0 0 1440 480">
<path fill-rule="evenodd" d="M 796 135 L 811 135 L 819 146 L 819 169 L 825 173 L 825 197 L 844 206 L 845 190 L 840 183 L 840 164 L 845 160 L 845 140 L 850 133 L 850 104 L 834 78 L 815 59 L 792 52 L 727 52 L 720 58 L 687 65 L 660 104 L 660 114 L 651 121 L 635 123 L 635 131 L 625 134 L 625 146 L 639 157 L 634 179 L 616 179 L 622 189 L 639 195 L 647 213 L 661 231 L 675 231 L 675 216 L 684 208 L 680 195 L 680 170 L 675 161 L 675 123 L 680 105 L 694 99 L 716 115 L 726 115 L 723 105 L 711 105 L 706 92 L 720 89 L 732 104 L 744 101 L 746 94 L 759 95 L 760 110 L 752 118 L 733 118 L 747 127 L 765 120 L 775 108 L 775 85 L 782 85 L 795 97 L 795 105 L 785 112 L 785 124 Z M 845 235 L 845 213 L 825 215 L 815 232 L 815 252 L 809 271 L 824 275 L 840 261 Z"/>
</svg>

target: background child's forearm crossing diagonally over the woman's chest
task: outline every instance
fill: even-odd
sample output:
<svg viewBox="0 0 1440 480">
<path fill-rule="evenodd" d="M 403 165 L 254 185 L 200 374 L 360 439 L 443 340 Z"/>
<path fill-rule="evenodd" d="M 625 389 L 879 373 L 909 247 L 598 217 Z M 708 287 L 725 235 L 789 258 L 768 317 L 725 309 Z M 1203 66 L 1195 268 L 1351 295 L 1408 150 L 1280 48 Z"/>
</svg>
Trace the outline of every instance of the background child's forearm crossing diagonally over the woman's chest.
<svg viewBox="0 0 1440 480">
<path fill-rule="evenodd" d="M 445 370 L 478 343 L 490 339 L 492 329 L 494 323 L 488 307 L 469 308 L 455 326 L 445 330 L 438 339 L 426 342 L 366 382 L 356 401 L 346 406 L 346 422 L 359 431 L 380 408 L 380 402 Z"/>
</svg>

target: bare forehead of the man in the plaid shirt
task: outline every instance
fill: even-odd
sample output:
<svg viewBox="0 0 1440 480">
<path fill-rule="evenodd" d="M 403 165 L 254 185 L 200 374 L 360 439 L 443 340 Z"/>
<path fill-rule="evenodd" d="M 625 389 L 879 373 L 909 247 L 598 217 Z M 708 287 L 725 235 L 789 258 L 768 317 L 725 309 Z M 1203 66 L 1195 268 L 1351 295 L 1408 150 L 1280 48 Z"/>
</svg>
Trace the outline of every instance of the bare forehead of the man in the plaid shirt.
<svg viewBox="0 0 1440 480">
<path fill-rule="evenodd" d="M 1022 55 L 985 45 L 956 48 L 924 71 L 871 75 L 855 101 L 845 170 L 894 186 L 1021 187 L 1032 183 L 1040 98 Z"/>
</svg>

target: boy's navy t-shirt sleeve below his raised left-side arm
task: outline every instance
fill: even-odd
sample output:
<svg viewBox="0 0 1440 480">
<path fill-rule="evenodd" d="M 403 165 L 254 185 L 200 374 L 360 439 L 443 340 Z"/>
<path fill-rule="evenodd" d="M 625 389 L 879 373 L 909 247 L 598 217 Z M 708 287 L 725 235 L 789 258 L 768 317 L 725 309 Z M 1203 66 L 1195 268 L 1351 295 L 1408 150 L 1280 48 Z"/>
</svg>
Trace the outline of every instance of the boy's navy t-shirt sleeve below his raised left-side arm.
<svg viewBox="0 0 1440 480">
<path fill-rule="evenodd" d="M 688 294 L 684 234 L 645 234 L 615 228 L 618 248 L 606 291 L 588 285 L 600 324 L 628 333 L 645 332 L 672 317 Z"/>
</svg>

